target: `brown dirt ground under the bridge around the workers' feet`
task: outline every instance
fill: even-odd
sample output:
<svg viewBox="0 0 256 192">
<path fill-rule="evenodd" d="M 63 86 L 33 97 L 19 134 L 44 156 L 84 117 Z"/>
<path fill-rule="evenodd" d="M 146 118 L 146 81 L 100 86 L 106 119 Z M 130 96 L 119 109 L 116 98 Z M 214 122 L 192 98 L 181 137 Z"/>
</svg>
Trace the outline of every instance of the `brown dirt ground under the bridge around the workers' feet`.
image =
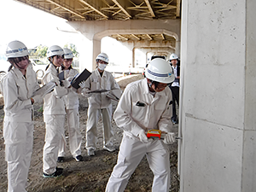
<svg viewBox="0 0 256 192">
<path fill-rule="evenodd" d="M 129 75 L 125 78 L 117 79 L 119 86 L 124 90 L 126 84 L 137 79 L 143 79 L 142 75 Z M 42 156 L 44 147 L 44 120 L 42 112 L 42 104 L 35 106 L 35 128 L 32 162 L 27 179 L 27 191 L 40 192 L 101 192 L 104 191 L 108 183 L 108 177 L 116 164 L 117 155 L 119 153 L 119 144 L 122 138 L 122 130 L 112 121 L 114 137 L 114 147 L 116 151 L 110 153 L 102 149 L 102 120 L 98 123 L 98 142 L 96 155 L 90 157 L 87 155 L 85 146 L 85 127 L 87 119 L 87 99 L 79 96 L 79 114 L 80 114 L 80 130 L 83 134 L 82 155 L 84 161 L 77 162 L 67 150 L 65 161 L 58 163 L 57 166 L 64 168 L 63 176 L 57 178 L 44 178 L 42 167 Z M 113 111 L 117 102 L 113 102 Z M 7 164 L 4 160 L 3 145 L 3 98 L 0 98 L 0 192 L 7 191 Z M 66 129 L 67 130 L 67 129 Z M 173 126 L 173 132 L 177 134 L 177 125 Z M 68 134 L 67 134 L 68 137 Z M 68 148 L 68 142 L 67 142 Z M 177 192 L 179 188 L 179 177 L 177 175 L 177 143 L 172 145 L 171 151 L 171 188 L 170 191 Z M 146 192 L 151 191 L 153 173 L 148 167 L 146 158 L 143 158 L 136 171 L 131 176 L 125 192 Z"/>
</svg>

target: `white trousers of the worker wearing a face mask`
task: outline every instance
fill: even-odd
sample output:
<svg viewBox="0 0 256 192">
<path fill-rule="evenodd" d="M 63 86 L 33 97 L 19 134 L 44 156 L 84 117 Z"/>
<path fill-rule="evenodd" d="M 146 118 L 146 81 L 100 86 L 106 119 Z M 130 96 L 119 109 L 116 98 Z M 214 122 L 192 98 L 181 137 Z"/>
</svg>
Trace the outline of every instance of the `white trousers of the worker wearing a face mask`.
<svg viewBox="0 0 256 192">
<path fill-rule="evenodd" d="M 96 149 L 97 142 L 97 123 L 102 113 L 102 132 L 103 132 L 103 146 L 112 145 L 111 139 L 113 137 L 113 130 L 111 126 L 112 105 L 108 108 L 88 108 L 88 119 L 86 125 L 86 144 L 85 148 Z"/>
</svg>

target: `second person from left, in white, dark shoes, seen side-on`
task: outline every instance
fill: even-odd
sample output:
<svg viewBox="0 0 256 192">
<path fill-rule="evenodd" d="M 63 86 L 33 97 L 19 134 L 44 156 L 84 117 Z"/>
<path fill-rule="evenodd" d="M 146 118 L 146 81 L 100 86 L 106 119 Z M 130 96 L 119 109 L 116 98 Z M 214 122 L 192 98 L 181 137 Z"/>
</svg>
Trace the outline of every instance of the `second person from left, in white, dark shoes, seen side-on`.
<svg viewBox="0 0 256 192">
<path fill-rule="evenodd" d="M 65 79 L 60 82 L 58 68 L 63 63 L 63 49 L 58 45 L 50 46 L 47 50 L 49 65 L 43 78 L 43 84 L 55 82 L 53 91 L 44 96 L 45 143 L 43 149 L 43 177 L 59 177 L 63 169 L 57 167 L 58 150 L 61 136 L 64 134 L 65 105 L 63 96 L 71 85 Z M 61 86 L 63 85 L 63 86 Z"/>
</svg>

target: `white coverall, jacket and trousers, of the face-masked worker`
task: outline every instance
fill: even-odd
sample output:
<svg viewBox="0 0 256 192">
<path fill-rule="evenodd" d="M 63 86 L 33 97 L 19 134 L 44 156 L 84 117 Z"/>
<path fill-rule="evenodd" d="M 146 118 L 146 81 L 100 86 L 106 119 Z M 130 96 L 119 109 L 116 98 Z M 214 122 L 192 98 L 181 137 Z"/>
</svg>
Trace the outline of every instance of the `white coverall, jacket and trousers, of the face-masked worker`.
<svg viewBox="0 0 256 192">
<path fill-rule="evenodd" d="M 85 81 L 85 87 L 82 94 L 88 90 L 120 90 L 119 84 L 113 78 L 113 75 L 107 71 L 103 71 L 102 77 L 98 69 L 94 70 L 89 79 Z M 112 118 L 112 102 L 106 95 L 108 92 L 92 93 L 88 98 L 88 119 L 86 126 L 86 144 L 85 148 L 96 149 L 97 129 L 96 125 L 99 120 L 100 113 L 102 113 L 103 123 L 103 146 L 113 145 L 111 138 L 113 137 L 113 130 L 111 126 Z M 84 95 L 85 96 L 85 95 Z"/>
</svg>

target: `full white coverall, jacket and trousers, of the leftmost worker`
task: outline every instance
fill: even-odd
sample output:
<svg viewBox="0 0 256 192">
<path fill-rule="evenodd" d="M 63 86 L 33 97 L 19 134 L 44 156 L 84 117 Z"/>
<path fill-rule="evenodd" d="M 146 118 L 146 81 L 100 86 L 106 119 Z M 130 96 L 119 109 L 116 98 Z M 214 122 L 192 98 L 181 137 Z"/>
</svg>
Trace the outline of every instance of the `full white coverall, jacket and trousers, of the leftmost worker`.
<svg viewBox="0 0 256 192">
<path fill-rule="evenodd" d="M 3 138 L 8 163 L 8 192 L 26 191 L 31 162 L 33 129 L 32 93 L 39 88 L 37 75 L 30 64 L 26 78 L 13 68 L 2 79 L 4 100 Z"/>
</svg>

